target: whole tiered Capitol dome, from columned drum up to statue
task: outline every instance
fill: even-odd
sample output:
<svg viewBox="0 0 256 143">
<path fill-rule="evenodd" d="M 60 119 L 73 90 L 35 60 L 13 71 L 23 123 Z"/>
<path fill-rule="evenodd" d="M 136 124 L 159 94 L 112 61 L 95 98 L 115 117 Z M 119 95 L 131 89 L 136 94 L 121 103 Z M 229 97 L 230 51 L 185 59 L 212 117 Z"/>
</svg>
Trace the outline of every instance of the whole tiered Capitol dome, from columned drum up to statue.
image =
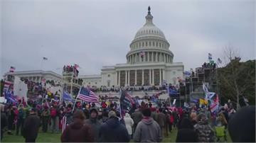
<svg viewBox="0 0 256 143">
<path fill-rule="evenodd" d="M 164 33 L 154 25 L 150 7 L 145 18 L 146 23 L 137 31 L 130 44 L 131 50 L 127 53 L 127 63 L 172 63 L 174 54 L 169 50 L 170 45 Z"/>
</svg>

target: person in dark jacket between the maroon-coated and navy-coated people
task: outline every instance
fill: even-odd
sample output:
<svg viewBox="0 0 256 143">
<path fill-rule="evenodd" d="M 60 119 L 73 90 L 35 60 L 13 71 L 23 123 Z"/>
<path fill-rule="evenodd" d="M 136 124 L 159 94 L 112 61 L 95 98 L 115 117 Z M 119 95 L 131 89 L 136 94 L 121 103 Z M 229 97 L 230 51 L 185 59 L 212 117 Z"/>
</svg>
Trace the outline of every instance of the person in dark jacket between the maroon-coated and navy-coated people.
<svg viewBox="0 0 256 143">
<path fill-rule="evenodd" d="M 95 136 L 95 142 L 98 142 L 99 140 L 99 130 L 100 130 L 100 121 L 97 119 L 98 111 L 96 108 L 92 108 L 90 110 L 90 119 L 85 120 L 85 123 L 87 125 L 91 125 L 92 131 Z"/>
</svg>

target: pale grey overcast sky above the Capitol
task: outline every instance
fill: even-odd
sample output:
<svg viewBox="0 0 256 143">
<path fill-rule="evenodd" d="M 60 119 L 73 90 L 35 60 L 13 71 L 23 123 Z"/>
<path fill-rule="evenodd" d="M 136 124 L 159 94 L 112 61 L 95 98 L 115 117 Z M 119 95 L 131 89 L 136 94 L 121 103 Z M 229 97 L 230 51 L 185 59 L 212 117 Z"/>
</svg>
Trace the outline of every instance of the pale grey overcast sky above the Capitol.
<svg viewBox="0 0 256 143">
<path fill-rule="evenodd" d="M 1 0 L 1 76 L 11 66 L 60 74 L 79 64 L 80 74 L 100 74 L 126 63 L 148 6 L 185 70 L 207 62 L 209 52 L 222 58 L 227 46 L 242 61 L 255 59 L 253 0 Z"/>
</svg>

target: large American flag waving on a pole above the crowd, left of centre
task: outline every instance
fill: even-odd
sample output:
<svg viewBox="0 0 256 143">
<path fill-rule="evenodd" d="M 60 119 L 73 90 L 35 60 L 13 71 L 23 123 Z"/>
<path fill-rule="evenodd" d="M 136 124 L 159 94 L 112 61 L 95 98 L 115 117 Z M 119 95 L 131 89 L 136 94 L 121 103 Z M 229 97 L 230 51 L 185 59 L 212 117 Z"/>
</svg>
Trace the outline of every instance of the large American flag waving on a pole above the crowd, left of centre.
<svg viewBox="0 0 256 143">
<path fill-rule="evenodd" d="M 94 92 L 89 91 L 87 88 L 84 87 L 80 88 L 80 92 L 78 93 L 77 98 L 80 98 L 82 101 L 86 102 L 98 102 L 99 100 Z"/>
</svg>

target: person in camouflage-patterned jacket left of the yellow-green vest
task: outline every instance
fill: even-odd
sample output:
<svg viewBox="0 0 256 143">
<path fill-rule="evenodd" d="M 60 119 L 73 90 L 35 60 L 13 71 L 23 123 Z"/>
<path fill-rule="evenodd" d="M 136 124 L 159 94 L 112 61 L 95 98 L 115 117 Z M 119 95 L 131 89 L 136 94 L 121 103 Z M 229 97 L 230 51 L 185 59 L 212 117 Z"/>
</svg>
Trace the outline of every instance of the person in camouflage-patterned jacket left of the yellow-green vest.
<svg viewBox="0 0 256 143">
<path fill-rule="evenodd" d="M 209 125 L 207 116 L 204 114 L 199 114 L 197 120 L 198 123 L 194 125 L 194 128 L 198 135 L 198 142 L 214 142 L 214 131 Z"/>
</svg>

